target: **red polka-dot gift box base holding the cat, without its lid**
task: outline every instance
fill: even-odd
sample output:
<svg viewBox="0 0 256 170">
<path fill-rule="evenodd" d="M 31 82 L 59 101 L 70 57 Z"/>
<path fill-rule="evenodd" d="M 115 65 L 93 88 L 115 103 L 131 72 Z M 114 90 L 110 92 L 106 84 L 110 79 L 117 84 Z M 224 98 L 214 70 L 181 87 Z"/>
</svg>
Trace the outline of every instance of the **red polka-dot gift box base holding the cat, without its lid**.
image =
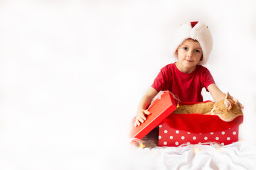
<svg viewBox="0 0 256 170">
<path fill-rule="evenodd" d="M 159 125 L 159 146 L 207 145 L 210 142 L 229 145 L 238 142 L 238 129 L 242 121 L 242 115 L 231 122 L 225 122 L 218 115 L 171 114 Z"/>
</svg>

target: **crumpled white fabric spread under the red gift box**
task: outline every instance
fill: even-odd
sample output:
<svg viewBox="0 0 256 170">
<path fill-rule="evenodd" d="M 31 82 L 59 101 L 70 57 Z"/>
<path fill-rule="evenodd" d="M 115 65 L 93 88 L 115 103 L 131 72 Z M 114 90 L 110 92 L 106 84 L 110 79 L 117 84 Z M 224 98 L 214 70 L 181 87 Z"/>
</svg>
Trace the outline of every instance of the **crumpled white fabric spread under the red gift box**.
<svg viewBox="0 0 256 170">
<path fill-rule="evenodd" d="M 222 147 L 188 145 L 145 148 L 143 152 L 154 158 L 154 169 L 256 169 L 256 147 L 247 142 Z"/>
</svg>

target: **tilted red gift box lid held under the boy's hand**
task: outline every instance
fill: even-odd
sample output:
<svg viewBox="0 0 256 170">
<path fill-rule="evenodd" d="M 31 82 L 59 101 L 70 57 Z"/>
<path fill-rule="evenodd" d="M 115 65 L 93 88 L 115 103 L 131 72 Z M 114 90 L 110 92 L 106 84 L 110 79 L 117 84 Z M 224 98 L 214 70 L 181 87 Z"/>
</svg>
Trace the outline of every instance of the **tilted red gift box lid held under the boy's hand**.
<svg viewBox="0 0 256 170">
<path fill-rule="evenodd" d="M 156 98 L 156 100 L 151 103 L 151 106 L 149 106 L 148 111 L 151 115 L 147 116 L 144 123 L 134 127 L 135 118 L 132 120 L 130 137 L 141 140 L 175 110 L 176 104 L 174 97 L 169 91 L 164 91 L 164 94 L 161 94 L 160 98 Z"/>
</svg>

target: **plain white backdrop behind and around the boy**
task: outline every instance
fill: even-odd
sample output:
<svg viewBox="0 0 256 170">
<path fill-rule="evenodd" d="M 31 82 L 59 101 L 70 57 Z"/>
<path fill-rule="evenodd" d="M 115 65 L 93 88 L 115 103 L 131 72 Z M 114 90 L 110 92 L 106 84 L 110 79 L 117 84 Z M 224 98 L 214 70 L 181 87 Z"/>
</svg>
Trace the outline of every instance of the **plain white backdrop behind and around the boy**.
<svg viewBox="0 0 256 170">
<path fill-rule="evenodd" d="M 137 164 L 129 120 L 186 21 L 210 28 L 205 66 L 245 106 L 240 140 L 256 144 L 255 11 L 253 0 L 0 1 L 0 168 Z"/>
</svg>

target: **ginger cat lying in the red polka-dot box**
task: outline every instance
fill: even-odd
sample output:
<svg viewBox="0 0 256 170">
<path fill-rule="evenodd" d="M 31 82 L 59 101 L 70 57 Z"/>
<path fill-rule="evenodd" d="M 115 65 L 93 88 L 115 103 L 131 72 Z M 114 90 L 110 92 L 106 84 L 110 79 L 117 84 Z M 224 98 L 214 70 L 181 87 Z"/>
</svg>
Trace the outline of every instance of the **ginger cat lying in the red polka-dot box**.
<svg viewBox="0 0 256 170">
<path fill-rule="evenodd" d="M 242 109 L 231 100 L 230 94 L 225 96 L 223 101 L 218 101 L 216 103 L 197 103 L 193 105 L 183 105 L 179 106 L 173 113 L 176 114 L 189 114 L 189 113 L 199 113 L 205 115 L 218 115 L 221 120 L 225 122 L 230 122 L 234 120 L 239 115 L 243 115 Z"/>
</svg>

